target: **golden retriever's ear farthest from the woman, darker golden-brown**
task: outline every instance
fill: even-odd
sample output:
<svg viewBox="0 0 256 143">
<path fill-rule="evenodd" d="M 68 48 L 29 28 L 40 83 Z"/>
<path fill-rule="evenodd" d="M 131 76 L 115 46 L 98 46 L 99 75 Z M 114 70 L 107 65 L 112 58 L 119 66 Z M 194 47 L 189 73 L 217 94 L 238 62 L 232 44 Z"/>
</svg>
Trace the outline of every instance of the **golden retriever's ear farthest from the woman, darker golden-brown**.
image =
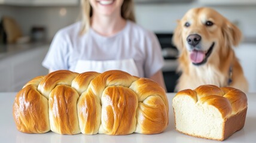
<svg viewBox="0 0 256 143">
<path fill-rule="evenodd" d="M 237 46 L 242 39 L 242 32 L 236 25 L 226 20 L 223 26 L 223 36 L 225 46 Z"/>
</svg>

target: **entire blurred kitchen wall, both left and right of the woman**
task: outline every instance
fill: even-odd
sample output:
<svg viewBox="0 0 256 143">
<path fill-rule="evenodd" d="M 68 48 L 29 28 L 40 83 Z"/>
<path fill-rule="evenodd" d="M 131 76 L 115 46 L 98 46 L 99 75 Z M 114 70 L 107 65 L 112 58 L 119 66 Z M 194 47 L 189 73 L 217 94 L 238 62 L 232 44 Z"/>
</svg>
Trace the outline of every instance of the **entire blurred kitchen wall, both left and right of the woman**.
<svg viewBox="0 0 256 143">
<path fill-rule="evenodd" d="M 245 37 L 256 38 L 256 5 L 215 6 L 229 20 L 238 24 Z M 176 20 L 198 4 L 137 4 L 136 20 L 154 32 L 172 32 Z M 57 30 L 78 19 L 80 7 L 10 7 L 0 5 L 1 15 L 10 15 L 18 21 L 24 35 L 29 35 L 32 26 L 45 26 L 47 38 L 53 38 Z M 62 14 L 60 14 L 62 11 Z M 63 12 L 64 11 L 64 12 Z M 65 14 L 66 12 L 66 14 Z"/>
</svg>

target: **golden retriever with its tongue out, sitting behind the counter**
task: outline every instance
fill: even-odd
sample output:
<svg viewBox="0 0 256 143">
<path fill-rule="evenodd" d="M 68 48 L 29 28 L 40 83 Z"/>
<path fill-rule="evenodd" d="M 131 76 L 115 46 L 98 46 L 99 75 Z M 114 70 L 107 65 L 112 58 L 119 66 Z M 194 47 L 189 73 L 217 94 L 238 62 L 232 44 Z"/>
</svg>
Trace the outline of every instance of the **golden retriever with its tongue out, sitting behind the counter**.
<svg viewBox="0 0 256 143">
<path fill-rule="evenodd" d="M 233 51 L 241 39 L 240 30 L 212 8 L 189 10 L 178 20 L 172 39 L 181 72 L 176 91 L 211 84 L 247 92 L 248 82 Z"/>
</svg>

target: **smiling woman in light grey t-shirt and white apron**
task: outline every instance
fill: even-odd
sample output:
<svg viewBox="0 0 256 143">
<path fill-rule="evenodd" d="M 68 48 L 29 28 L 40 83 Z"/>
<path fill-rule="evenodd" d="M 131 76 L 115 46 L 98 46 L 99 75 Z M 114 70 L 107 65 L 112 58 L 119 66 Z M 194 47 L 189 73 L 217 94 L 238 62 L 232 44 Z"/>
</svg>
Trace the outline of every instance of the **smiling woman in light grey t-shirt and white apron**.
<svg viewBox="0 0 256 143">
<path fill-rule="evenodd" d="M 133 0 L 81 0 L 82 20 L 59 30 L 43 66 L 54 70 L 123 70 L 164 89 L 163 57 L 154 33 L 135 24 Z"/>
</svg>

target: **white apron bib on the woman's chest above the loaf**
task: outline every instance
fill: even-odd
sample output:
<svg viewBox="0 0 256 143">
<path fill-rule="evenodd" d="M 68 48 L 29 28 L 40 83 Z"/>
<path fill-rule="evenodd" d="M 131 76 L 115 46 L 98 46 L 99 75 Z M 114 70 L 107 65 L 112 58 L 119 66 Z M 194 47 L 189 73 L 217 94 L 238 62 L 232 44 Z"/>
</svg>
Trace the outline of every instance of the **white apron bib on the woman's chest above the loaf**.
<svg viewBox="0 0 256 143">
<path fill-rule="evenodd" d="M 126 60 L 106 61 L 78 60 L 74 71 L 77 73 L 83 73 L 86 71 L 97 71 L 99 73 L 103 73 L 108 70 L 123 70 L 133 76 L 139 76 L 135 61 L 132 58 Z"/>
</svg>

